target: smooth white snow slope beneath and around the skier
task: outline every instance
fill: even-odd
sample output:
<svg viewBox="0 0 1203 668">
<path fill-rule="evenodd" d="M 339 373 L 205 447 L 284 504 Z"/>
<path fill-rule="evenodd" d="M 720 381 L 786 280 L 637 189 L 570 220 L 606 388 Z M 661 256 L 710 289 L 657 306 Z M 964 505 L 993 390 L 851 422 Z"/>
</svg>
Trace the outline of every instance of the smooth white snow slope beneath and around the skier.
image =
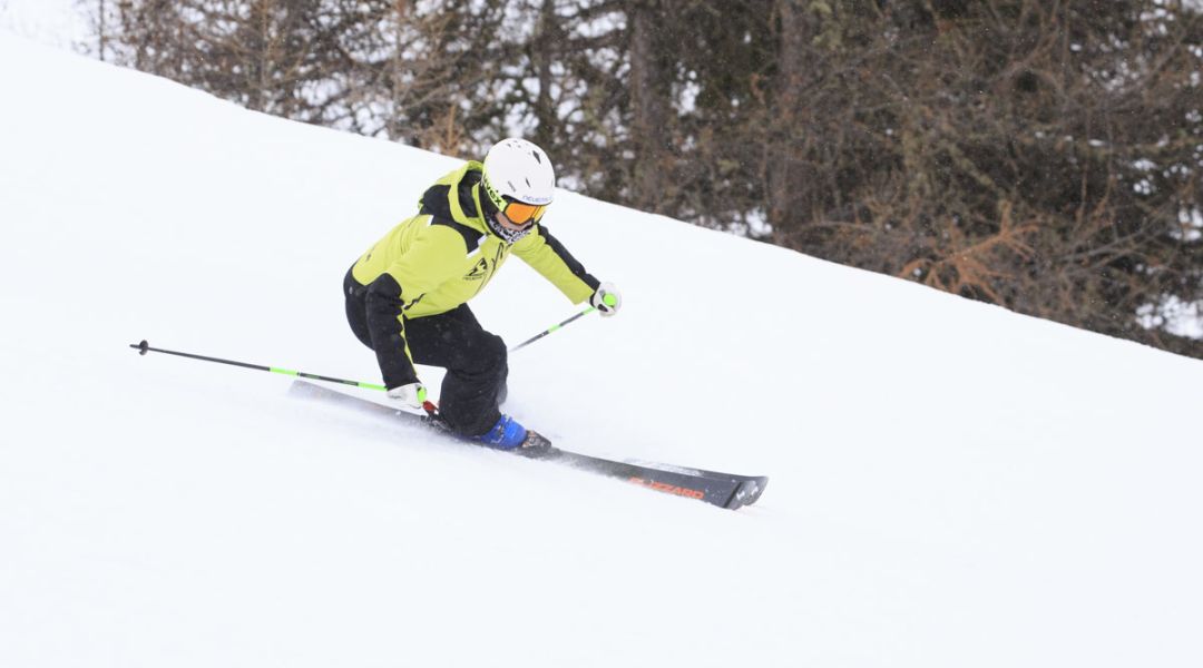
<svg viewBox="0 0 1203 668">
<path fill-rule="evenodd" d="M 722 511 L 128 347 L 378 378 L 343 273 L 457 161 L 4 35 L 0 90 L 0 666 L 1203 664 L 1196 360 L 561 192 L 624 309 L 508 408 L 772 477 Z"/>
</svg>

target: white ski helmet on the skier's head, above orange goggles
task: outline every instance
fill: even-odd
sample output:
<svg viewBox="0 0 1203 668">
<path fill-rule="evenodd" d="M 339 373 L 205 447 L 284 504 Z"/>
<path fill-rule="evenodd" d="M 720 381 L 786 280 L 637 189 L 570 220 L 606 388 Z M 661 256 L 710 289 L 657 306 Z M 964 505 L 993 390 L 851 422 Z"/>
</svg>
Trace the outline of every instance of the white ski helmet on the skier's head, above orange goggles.
<svg viewBox="0 0 1203 668">
<path fill-rule="evenodd" d="M 546 207 L 555 195 L 556 169 L 543 149 L 526 139 L 510 137 L 488 149 L 481 183 L 485 193 L 500 211 L 514 201 Z"/>
</svg>

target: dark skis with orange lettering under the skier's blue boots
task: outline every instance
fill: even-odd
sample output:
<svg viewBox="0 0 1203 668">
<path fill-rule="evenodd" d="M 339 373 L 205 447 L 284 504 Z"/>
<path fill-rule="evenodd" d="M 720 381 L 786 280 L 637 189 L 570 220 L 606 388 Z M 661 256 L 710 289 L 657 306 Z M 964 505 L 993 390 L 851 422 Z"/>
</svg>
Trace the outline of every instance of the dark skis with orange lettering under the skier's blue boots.
<svg viewBox="0 0 1203 668">
<path fill-rule="evenodd" d="M 308 381 L 292 381 L 289 393 L 304 399 L 322 399 L 338 405 L 368 411 L 377 416 L 389 416 L 395 421 L 429 429 L 448 439 L 462 439 L 435 425 L 428 416 L 396 410 L 365 399 L 319 386 Z M 532 459 L 561 464 L 609 478 L 621 479 L 647 489 L 697 499 L 722 508 L 736 509 L 754 503 L 764 493 L 769 478 L 764 476 L 737 476 L 718 471 L 705 471 L 686 466 L 656 463 L 615 461 L 600 457 L 575 453 L 555 446 L 533 455 Z"/>
</svg>

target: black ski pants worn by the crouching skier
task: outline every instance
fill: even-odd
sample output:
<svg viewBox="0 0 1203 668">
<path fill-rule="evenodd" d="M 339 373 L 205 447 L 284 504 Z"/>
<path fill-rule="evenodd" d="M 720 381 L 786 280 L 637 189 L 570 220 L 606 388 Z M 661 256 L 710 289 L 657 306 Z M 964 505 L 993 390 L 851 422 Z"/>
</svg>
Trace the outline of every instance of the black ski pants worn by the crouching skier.
<svg viewBox="0 0 1203 668">
<path fill-rule="evenodd" d="M 343 280 L 346 321 L 351 332 L 368 348 L 367 287 L 351 273 Z M 405 318 L 405 340 L 416 364 L 443 366 L 439 414 L 458 434 L 479 436 L 500 417 L 498 404 L 505 399 L 509 375 L 505 341 L 485 332 L 467 304 L 445 314 Z"/>
</svg>

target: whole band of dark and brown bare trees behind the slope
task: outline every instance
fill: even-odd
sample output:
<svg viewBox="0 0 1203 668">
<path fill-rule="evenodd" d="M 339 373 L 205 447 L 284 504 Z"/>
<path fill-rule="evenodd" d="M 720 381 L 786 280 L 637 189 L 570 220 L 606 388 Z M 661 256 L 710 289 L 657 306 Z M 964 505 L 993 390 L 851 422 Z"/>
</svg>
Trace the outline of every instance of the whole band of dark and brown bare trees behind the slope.
<svg viewBox="0 0 1203 668">
<path fill-rule="evenodd" d="M 106 58 L 1203 357 L 1203 17 L 1177 0 L 88 0 Z M 102 28 L 102 29 L 101 29 Z"/>
</svg>

